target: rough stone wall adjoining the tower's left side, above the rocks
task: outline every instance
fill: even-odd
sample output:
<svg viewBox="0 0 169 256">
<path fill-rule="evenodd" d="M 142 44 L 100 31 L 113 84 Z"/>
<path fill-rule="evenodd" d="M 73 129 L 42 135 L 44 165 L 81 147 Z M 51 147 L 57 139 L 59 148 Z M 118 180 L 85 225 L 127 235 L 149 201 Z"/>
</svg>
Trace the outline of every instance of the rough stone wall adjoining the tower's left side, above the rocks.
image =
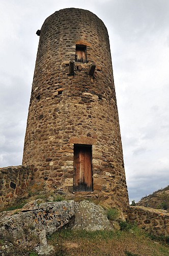
<svg viewBox="0 0 169 256">
<path fill-rule="evenodd" d="M 32 180 L 30 166 L 8 166 L 0 168 L 0 209 L 26 194 L 26 187 Z"/>
</svg>

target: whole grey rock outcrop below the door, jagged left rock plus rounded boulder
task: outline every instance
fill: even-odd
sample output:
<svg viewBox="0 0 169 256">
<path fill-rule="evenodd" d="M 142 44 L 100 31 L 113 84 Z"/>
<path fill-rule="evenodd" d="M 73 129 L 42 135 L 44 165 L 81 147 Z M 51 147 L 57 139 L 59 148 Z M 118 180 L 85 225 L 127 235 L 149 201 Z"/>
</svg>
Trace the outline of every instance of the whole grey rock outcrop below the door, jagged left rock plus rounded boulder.
<svg viewBox="0 0 169 256">
<path fill-rule="evenodd" d="M 89 201 L 48 202 L 35 200 L 20 210 L 0 214 L 0 255 L 54 255 L 47 236 L 63 228 L 111 229 L 105 210 Z"/>
</svg>

